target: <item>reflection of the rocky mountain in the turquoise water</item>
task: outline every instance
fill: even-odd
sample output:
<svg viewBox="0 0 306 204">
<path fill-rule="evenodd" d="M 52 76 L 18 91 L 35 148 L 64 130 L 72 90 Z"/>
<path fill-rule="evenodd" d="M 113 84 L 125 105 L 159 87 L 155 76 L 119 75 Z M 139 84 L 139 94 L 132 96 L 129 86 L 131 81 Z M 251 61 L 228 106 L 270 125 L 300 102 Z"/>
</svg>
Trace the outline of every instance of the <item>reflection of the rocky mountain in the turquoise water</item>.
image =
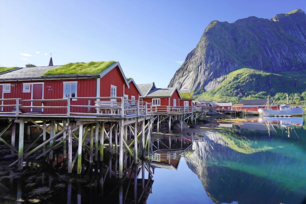
<svg viewBox="0 0 306 204">
<path fill-rule="evenodd" d="M 259 136 L 254 141 L 240 137 L 257 145 L 260 143 L 261 147 L 252 147 L 254 150 L 263 148 L 245 154 L 232 149 L 222 139 L 224 134 L 207 133 L 203 142 L 193 144 L 194 153 L 185 157 L 188 167 L 200 178 L 215 203 L 302 202 L 306 192 L 305 151 L 292 152 L 293 148 L 288 150 L 291 153 L 274 151 L 271 139 Z M 245 142 L 245 147 L 249 145 Z"/>
</svg>

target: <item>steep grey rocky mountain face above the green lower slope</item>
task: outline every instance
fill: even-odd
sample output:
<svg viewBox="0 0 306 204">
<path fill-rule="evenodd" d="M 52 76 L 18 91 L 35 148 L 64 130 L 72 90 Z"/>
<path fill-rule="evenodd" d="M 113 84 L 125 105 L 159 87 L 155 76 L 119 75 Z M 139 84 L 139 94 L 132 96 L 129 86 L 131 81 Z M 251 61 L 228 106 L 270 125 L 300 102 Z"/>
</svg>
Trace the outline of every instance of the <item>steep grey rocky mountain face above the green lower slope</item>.
<svg viewBox="0 0 306 204">
<path fill-rule="evenodd" d="M 252 16 L 234 23 L 212 21 L 169 87 L 209 91 L 241 68 L 271 73 L 306 69 L 305 12 L 295 9 L 270 20 Z M 266 84 L 262 87 L 267 89 Z"/>
</svg>

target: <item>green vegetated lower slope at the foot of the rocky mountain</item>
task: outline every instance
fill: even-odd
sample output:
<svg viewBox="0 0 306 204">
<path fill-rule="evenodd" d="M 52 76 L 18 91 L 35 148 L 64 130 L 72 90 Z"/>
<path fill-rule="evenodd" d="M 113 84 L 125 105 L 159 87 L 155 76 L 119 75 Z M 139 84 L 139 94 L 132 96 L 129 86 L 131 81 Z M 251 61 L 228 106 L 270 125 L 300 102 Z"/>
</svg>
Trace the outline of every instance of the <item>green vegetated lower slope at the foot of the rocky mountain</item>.
<svg viewBox="0 0 306 204">
<path fill-rule="evenodd" d="M 272 96 L 276 102 L 286 95 L 295 103 L 306 101 L 306 70 L 270 73 L 257 69 L 242 68 L 230 72 L 220 85 L 197 95 L 198 99 L 229 101 L 238 103 L 240 99 L 259 99 Z"/>
</svg>

